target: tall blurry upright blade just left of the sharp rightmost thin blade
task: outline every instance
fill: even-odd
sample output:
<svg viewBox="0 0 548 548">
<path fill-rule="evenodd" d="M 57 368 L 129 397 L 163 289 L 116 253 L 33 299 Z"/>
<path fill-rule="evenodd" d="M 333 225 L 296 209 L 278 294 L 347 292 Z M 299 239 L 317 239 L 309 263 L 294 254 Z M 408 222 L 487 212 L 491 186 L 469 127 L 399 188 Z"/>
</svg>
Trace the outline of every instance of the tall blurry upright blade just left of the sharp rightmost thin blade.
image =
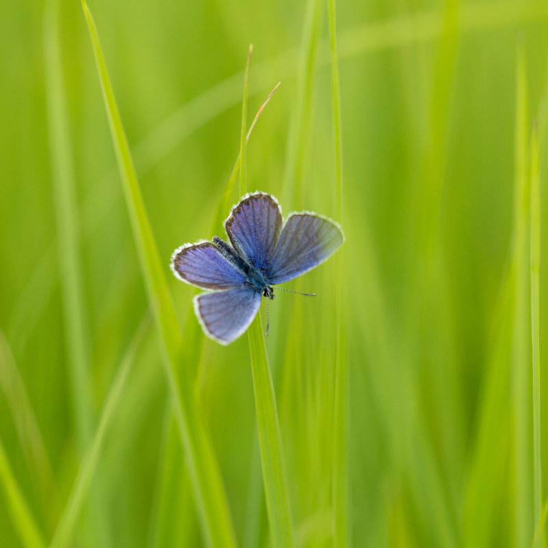
<svg viewBox="0 0 548 548">
<path fill-rule="evenodd" d="M 513 378 L 513 426 L 512 443 L 514 465 L 514 518 L 515 545 L 525 546 L 532 536 L 532 493 L 530 466 L 530 349 L 527 333 L 527 282 L 529 276 L 529 182 L 527 178 L 528 136 L 527 130 L 527 75 L 525 53 L 520 40 L 516 65 L 516 184 L 514 195 L 514 261 L 516 264 L 516 293 L 514 309 L 514 336 L 512 350 Z"/>
</svg>

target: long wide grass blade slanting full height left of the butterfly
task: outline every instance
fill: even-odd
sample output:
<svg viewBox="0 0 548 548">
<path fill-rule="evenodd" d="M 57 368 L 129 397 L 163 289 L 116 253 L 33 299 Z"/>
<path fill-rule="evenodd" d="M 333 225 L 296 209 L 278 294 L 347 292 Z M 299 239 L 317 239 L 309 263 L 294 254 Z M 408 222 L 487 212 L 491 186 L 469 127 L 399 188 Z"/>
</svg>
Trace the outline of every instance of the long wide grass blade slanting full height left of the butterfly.
<svg viewBox="0 0 548 548">
<path fill-rule="evenodd" d="M 163 262 L 160 261 L 145 204 L 142 201 L 97 29 L 84 0 L 82 0 L 82 7 L 86 16 L 99 80 L 103 90 L 105 108 L 121 172 L 140 267 L 145 278 L 151 310 L 160 331 L 162 347 L 165 351 L 164 363 L 166 364 L 169 388 L 173 395 L 175 419 L 182 439 L 203 540 L 206 545 L 211 547 L 233 547 L 236 545 L 234 527 L 212 443 L 203 427 L 192 390 L 192 383 L 187 378 L 187 372 L 184 368 L 180 371 L 177 368 L 182 341 L 173 301 L 162 268 Z"/>
</svg>

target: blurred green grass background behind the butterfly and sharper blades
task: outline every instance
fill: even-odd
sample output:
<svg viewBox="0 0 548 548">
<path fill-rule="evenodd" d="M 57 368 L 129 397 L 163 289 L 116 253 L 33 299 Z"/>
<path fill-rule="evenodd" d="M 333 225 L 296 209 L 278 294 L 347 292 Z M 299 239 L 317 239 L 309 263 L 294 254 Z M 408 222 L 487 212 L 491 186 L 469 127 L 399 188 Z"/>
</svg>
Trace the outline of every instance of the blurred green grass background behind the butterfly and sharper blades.
<svg viewBox="0 0 548 548">
<path fill-rule="evenodd" d="M 14 512 L 14 482 L 49 543 L 128 364 L 69 545 L 200 546 L 82 6 L 62 0 L 53 34 L 45 13 L 55 3 L 2 8 L 0 545 L 34 545 Z M 284 213 L 336 217 L 327 5 L 93 0 L 90 10 L 183 340 L 199 348 L 180 367 L 196 378 L 238 544 L 266 546 L 247 336 L 221 347 L 192 331 L 194 291 L 171 275 L 169 259 L 210 231 L 239 151 L 251 42 L 249 121 L 282 86 L 249 140 L 248 190 L 271 192 Z M 544 212 L 548 5 L 340 0 L 337 18 L 350 545 L 530 546 L 538 508 L 528 192 L 536 121 Z M 48 103 L 55 43 L 66 116 Z M 56 119 L 66 121 L 64 143 Z M 216 234 L 225 236 L 220 226 Z M 72 293 L 67 260 L 79 273 Z M 335 265 L 288 284 L 316 299 L 277 292 L 269 308 L 299 546 L 333 545 Z M 67 292 L 81 297 L 76 316 Z M 542 394 L 542 367 L 541 381 Z"/>
</svg>

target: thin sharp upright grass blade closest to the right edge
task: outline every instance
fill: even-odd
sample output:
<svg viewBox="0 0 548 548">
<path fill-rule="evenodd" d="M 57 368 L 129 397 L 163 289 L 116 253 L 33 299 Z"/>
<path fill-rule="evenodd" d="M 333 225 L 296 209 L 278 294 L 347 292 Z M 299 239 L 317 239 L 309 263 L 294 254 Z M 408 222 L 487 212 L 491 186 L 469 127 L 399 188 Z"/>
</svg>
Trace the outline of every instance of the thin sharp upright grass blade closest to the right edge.
<svg viewBox="0 0 548 548">
<path fill-rule="evenodd" d="M 536 128 L 531 140 L 531 332 L 533 345 L 533 477 L 534 523 L 540 520 L 543 504 L 542 453 L 540 444 L 540 177 L 538 173 L 538 138 Z M 538 539 L 537 548 L 541 540 Z"/>
</svg>

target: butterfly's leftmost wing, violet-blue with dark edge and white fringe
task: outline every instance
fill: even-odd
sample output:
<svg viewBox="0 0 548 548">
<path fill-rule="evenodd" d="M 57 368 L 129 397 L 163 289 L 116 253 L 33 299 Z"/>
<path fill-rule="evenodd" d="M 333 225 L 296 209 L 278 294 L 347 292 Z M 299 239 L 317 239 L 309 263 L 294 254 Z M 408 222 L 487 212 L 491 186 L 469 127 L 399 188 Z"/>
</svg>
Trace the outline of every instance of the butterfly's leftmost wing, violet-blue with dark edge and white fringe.
<svg viewBox="0 0 548 548">
<path fill-rule="evenodd" d="M 175 276 L 204 289 L 234 289 L 245 282 L 245 275 L 227 261 L 212 242 L 182 245 L 171 257 Z"/>
</svg>

